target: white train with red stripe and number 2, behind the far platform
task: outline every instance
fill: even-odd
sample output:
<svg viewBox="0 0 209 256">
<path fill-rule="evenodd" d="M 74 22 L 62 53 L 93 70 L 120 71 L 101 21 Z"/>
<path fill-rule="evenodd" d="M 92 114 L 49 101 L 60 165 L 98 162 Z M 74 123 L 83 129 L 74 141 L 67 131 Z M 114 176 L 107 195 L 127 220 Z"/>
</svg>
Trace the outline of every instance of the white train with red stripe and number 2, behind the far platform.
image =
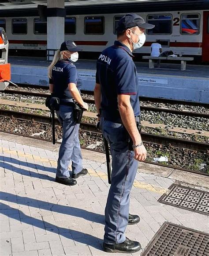
<svg viewBox="0 0 209 256">
<path fill-rule="evenodd" d="M 116 1 L 119 2 L 119 1 Z M 129 3 L 127 3 L 129 2 Z M 136 50 L 136 56 L 150 54 L 150 45 L 160 40 L 163 50 L 175 54 L 191 55 L 203 62 L 209 62 L 209 1 L 126 1 L 108 9 L 98 3 L 65 3 L 65 39 L 82 45 L 83 57 L 94 58 L 116 39 L 116 25 L 126 12 L 137 12 L 155 27 L 146 31 L 144 47 Z M 161 3 L 160 3 L 161 2 Z M 163 4 L 163 3 L 164 4 Z M 186 3 L 187 2 L 187 3 Z M 7 12 L 6 12 L 7 10 Z M 126 12 L 125 12 L 126 11 Z M 10 43 L 11 54 L 28 51 L 35 55 L 46 54 L 47 22 L 42 22 L 37 5 L 1 7 L 0 27 L 4 27 Z"/>
</svg>

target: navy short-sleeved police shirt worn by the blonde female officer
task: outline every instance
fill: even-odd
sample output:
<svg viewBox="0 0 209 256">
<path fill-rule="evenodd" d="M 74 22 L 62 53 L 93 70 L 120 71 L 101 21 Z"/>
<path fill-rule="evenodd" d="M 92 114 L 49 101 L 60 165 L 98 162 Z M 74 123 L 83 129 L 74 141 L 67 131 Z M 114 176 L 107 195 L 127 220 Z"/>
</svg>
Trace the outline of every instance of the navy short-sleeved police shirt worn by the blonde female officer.
<svg viewBox="0 0 209 256">
<path fill-rule="evenodd" d="M 82 80 L 76 66 L 70 61 L 60 60 L 53 66 L 49 83 L 54 85 L 53 96 L 63 101 L 71 101 L 73 98 L 68 89 L 69 83 L 75 83 L 79 91 L 82 87 Z"/>
</svg>

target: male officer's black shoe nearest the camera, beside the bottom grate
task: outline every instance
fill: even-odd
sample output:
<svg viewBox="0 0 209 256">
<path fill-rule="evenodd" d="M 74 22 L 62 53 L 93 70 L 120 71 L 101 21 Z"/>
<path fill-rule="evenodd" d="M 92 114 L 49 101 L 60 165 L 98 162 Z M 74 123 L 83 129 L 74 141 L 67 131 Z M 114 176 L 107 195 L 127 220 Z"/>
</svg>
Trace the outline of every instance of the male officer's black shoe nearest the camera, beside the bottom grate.
<svg viewBox="0 0 209 256">
<path fill-rule="evenodd" d="M 126 237 L 126 240 L 120 244 L 103 244 L 104 252 L 125 252 L 134 253 L 141 249 L 141 244 L 136 241 L 132 241 Z"/>
</svg>

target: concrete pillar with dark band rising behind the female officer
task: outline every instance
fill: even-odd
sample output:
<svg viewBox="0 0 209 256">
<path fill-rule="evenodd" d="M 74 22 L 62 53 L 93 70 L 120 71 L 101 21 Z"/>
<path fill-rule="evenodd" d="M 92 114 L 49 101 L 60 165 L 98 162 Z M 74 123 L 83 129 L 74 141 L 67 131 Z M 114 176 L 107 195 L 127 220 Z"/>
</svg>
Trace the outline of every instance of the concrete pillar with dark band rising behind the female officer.
<svg viewBox="0 0 209 256">
<path fill-rule="evenodd" d="M 47 0 L 47 60 L 52 61 L 54 52 L 64 41 L 64 0 Z"/>
</svg>

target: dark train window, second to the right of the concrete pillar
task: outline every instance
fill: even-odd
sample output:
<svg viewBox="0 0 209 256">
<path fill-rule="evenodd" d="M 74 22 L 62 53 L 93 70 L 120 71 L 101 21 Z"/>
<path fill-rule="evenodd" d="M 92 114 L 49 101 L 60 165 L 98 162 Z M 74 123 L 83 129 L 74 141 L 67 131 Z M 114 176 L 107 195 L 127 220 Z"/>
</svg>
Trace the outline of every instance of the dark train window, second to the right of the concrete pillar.
<svg viewBox="0 0 209 256">
<path fill-rule="evenodd" d="M 103 35 L 104 34 L 104 17 L 92 16 L 84 19 L 84 34 Z"/>
</svg>

